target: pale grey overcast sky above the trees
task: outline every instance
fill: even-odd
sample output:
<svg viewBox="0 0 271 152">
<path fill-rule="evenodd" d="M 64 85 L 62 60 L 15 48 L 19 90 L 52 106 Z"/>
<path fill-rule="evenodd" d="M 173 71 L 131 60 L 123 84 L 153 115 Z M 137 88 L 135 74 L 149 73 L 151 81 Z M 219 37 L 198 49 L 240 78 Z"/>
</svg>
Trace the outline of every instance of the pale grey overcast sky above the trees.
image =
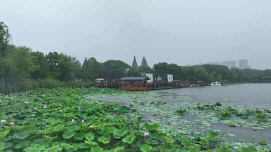
<svg viewBox="0 0 271 152">
<path fill-rule="evenodd" d="M 0 0 L 12 43 L 81 61 L 271 68 L 271 0 Z"/>
</svg>

